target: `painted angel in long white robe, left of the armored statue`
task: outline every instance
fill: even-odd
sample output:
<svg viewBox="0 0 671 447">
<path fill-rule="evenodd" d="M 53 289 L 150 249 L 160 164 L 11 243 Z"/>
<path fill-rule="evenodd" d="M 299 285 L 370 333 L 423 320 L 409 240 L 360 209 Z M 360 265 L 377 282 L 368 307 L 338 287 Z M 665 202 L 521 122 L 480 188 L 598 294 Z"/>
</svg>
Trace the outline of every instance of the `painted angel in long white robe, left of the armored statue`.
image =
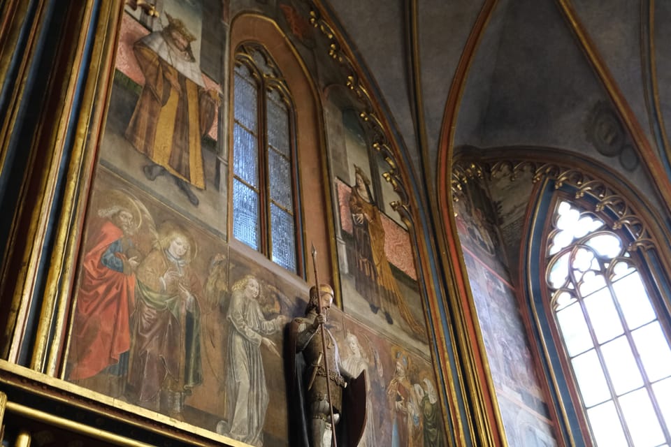
<svg viewBox="0 0 671 447">
<path fill-rule="evenodd" d="M 266 319 L 260 300 L 261 285 L 252 274 L 231 287 L 231 302 L 226 315 L 231 323 L 226 354 L 226 419 L 220 420 L 216 428 L 217 433 L 252 446 L 264 444 L 268 408 L 261 346 L 281 357 L 269 336 L 280 332 L 289 321 L 283 315 Z"/>
</svg>

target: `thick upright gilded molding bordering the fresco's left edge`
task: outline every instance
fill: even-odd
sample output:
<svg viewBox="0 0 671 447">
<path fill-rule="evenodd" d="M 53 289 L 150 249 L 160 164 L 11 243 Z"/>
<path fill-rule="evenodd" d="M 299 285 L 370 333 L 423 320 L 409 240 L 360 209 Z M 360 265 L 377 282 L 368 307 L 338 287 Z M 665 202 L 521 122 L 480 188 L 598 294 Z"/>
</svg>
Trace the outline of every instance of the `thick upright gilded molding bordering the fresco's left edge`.
<svg viewBox="0 0 671 447">
<path fill-rule="evenodd" d="M 87 187 L 93 168 L 92 159 L 95 151 L 86 150 L 87 142 L 89 139 L 95 141 L 101 135 L 103 116 L 108 105 L 106 99 L 111 88 L 109 80 L 113 71 L 113 52 L 110 53 L 110 46 L 115 47 L 113 44 L 116 42 L 115 35 L 117 24 L 120 24 L 118 18 L 122 13 L 122 7 L 122 4 L 118 7 L 117 2 L 113 0 L 101 2 L 96 35 L 102 34 L 105 38 L 95 39 L 89 66 L 86 67 L 89 70 L 89 77 L 85 85 L 79 87 L 82 89 L 82 103 L 66 173 L 68 181 L 64 184 L 62 210 L 56 220 L 54 249 L 46 277 L 43 305 L 36 332 L 36 346 L 30 362 L 31 368 L 49 375 L 56 374 L 59 363 L 68 295 L 75 270 L 75 265 L 71 261 L 76 258 L 79 229 L 85 214 L 80 211 L 83 210 L 82 203 L 85 203 L 85 198 L 88 196 Z M 94 22 L 93 12 L 92 5 L 82 8 L 84 23 L 90 25 Z M 88 31 L 88 28 L 82 29 L 78 36 L 73 67 L 79 67 L 79 70 L 85 69 L 82 62 Z M 73 75 L 66 89 L 68 96 L 75 94 L 79 70 L 73 68 Z M 101 89 L 100 85 L 106 88 Z M 62 124 L 62 132 L 66 131 L 67 125 L 67 122 Z M 52 170 L 59 169 L 59 163 L 52 167 Z M 53 191 L 50 191 L 50 194 L 53 194 Z M 41 215 L 48 215 L 48 210 L 39 212 Z"/>
</svg>

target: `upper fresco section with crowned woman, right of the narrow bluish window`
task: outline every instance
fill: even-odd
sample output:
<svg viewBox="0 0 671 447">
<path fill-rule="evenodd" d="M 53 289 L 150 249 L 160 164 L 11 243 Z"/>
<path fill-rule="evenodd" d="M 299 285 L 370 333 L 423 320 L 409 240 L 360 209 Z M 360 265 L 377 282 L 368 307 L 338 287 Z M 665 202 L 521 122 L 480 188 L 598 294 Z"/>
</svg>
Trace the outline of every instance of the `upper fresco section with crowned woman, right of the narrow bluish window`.
<svg viewBox="0 0 671 447">
<path fill-rule="evenodd" d="M 338 256 L 342 304 L 392 337 L 427 352 L 426 324 L 410 235 L 389 203 L 398 200 L 384 180 L 384 160 L 366 142 L 366 133 L 347 98 L 335 92 L 326 106 L 329 158 L 337 194 Z M 401 332 L 398 332 L 401 330 Z"/>
</svg>

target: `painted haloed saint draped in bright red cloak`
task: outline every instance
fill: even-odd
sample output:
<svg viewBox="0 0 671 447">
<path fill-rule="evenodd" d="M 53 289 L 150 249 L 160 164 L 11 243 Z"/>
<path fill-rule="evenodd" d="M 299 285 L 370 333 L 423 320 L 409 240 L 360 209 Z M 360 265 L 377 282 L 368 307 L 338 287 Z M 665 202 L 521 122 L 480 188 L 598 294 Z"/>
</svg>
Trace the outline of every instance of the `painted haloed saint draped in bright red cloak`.
<svg viewBox="0 0 671 447">
<path fill-rule="evenodd" d="M 123 376 L 131 347 L 129 318 L 141 254 L 131 240 L 144 207 L 129 193 L 104 191 L 84 255 L 73 316 L 68 380 L 83 381 L 103 371 Z"/>
</svg>

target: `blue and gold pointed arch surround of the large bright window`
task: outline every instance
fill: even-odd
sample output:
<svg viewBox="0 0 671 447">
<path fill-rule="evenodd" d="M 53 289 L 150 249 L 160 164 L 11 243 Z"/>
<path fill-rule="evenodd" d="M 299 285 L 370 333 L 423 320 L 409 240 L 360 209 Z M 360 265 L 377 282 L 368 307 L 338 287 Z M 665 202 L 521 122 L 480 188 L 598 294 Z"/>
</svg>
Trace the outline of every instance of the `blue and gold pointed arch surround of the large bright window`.
<svg viewBox="0 0 671 447">
<path fill-rule="evenodd" d="M 591 186 L 595 190 L 586 193 L 584 182 L 563 182 L 554 178 L 546 178 L 537 189 L 537 200 L 533 222 L 530 223 L 526 247 L 526 260 L 522 265 L 526 272 L 527 310 L 531 320 L 533 337 L 541 347 L 544 374 L 550 384 L 551 399 L 560 415 L 559 429 L 563 439 L 575 446 L 593 446 L 591 429 L 575 376 L 568 363 L 561 336 L 555 323 L 554 311 L 551 308 L 551 297 L 546 282 L 546 249 L 551 232 L 551 219 L 554 217 L 555 204 L 562 198 L 570 203 L 578 204 L 584 210 L 598 215 L 607 223 L 613 233 L 628 244 L 628 253 L 637 270 L 644 278 L 645 286 L 654 302 L 654 309 L 667 339 L 671 334 L 668 299 L 668 272 L 659 257 L 654 238 L 640 217 L 626 205 L 621 196 L 617 196 L 603 182 L 595 181 Z M 612 194 L 612 196 L 610 195 Z M 668 436 L 668 424 L 667 432 Z"/>
</svg>

